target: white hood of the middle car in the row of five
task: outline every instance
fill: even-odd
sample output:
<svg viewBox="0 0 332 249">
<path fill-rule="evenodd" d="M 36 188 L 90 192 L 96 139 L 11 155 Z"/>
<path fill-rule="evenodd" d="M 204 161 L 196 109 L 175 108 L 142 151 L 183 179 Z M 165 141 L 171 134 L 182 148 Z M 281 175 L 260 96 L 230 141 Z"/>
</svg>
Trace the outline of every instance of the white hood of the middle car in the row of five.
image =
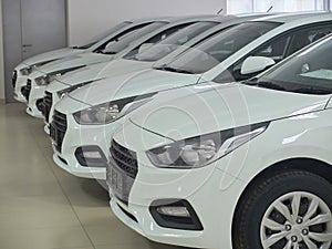
<svg viewBox="0 0 332 249">
<path fill-rule="evenodd" d="M 83 69 L 75 70 L 71 73 L 59 76 L 58 81 L 73 86 L 83 82 L 97 81 L 104 77 L 111 77 L 127 74 L 131 72 L 137 72 L 144 69 L 149 69 L 152 64 L 152 62 L 118 59 L 110 62 L 107 61 L 103 63 L 92 64 Z"/>
</svg>

